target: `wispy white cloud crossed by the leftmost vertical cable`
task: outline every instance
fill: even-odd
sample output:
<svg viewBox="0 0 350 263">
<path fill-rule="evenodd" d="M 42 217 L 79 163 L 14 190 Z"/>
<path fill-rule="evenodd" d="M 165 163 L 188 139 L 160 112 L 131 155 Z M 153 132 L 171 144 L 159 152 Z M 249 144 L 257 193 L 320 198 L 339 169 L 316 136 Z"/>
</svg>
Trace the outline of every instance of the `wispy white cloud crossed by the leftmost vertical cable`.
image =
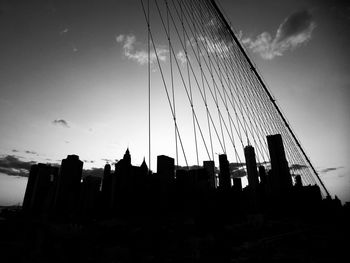
<svg viewBox="0 0 350 263">
<path fill-rule="evenodd" d="M 145 48 L 142 48 L 142 44 L 136 41 L 136 36 L 133 34 L 130 35 L 119 35 L 116 37 L 117 43 L 120 43 L 124 49 L 124 56 L 130 60 L 137 62 L 139 65 L 145 65 L 148 63 L 148 51 Z M 164 46 L 157 46 L 156 52 L 154 49 L 151 49 L 150 52 L 150 63 L 153 64 L 158 59 L 160 61 L 166 61 L 169 50 Z"/>
</svg>

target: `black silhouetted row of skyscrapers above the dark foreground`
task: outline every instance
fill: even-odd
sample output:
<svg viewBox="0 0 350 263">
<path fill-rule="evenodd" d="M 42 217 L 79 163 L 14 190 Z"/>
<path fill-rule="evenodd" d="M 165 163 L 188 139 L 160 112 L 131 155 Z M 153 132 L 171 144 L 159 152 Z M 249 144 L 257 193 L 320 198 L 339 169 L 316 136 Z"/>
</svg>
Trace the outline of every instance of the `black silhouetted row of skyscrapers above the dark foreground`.
<svg viewBox="0 0 350 263">
<path fill-rule="evenodd" d="M 267 142 L 269 171 L 257 165 L 252 146 L 244 148 L 248 178 L 244 189 L 241 178 L 231 178 L 225 154 L 219 155 L 218 175 L 214 161 L 204 161 L 196 169 L 176 169 L 174 159 L 164 155 L 157 157 L 157 173 L 152 173 L 145 161 L 133 166 L 129 150 L 114 171 L 105 165 L 103 178 L 83 177 L 83 162 L 77 155 L 68 155 L 59 168 L 39 163 L 31 167 L 23 211 L 67 220 L 150 214 L 209 218 L 233 211 L 259 212 L 282 202 L 292 207 L 292 202 L 305 203 L 305 198 L 320 202 L 318 186 L 302 186 L 300 176 L 293 182 L 281 135 L 269 135 Z"/>
</svg>

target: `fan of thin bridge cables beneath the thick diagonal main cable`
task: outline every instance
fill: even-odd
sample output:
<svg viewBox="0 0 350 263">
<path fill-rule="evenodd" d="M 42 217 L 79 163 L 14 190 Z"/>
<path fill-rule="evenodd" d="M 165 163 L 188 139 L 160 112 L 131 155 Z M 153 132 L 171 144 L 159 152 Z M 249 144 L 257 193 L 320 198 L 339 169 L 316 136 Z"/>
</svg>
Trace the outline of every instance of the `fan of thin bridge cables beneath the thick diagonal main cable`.
<svg viewBox="0 0 350 263">
<path fill-rule="evenodd" d="M 266 136 L 278 133 L 283 138 L 291 173 L 300 174 L 304 185 L 318 184 L 322 195 L 329 196 L 283 112 L 216 2 L 154 0 L 148 4 L 155 5 L 158 11 L 152 14 L 152 28 L 148 27 L 149 44 L 153 46 L 152 50 L 149 48 L 152 56 L 149 58 L 149 71 L 151 66 L 155 66 L 152 62 L 157 62 L 158 67 L 152 72 L 158 71 L 162 78 L 174 120 L 175 148 L 178 139 L 184 153 L 178 127 L 180 121 L 181 129 L 186 131 L 186 144 L 192 145 L 190 134 L 194 134 L 196 147 L 195 153 L 191 151 L 189 155 L 191 162 L 195 157 L 198 165 L 202 158 L 204 148 L 201 148 L 201 138 L 210 160 L 214 160 L 214 147 L 217 152 L 219 146 L 219 152 L 226 153 L 228 158 L 234 153 L 237 164 L 244 165 L 239 157 L 248 144 L 255 148 L 258 163 L 269 166 Z M 145 18 L 149 22 L 147 12 Z M 155 43 L 152 34 L 159 43 Z M 168 42 L 166 50 L 162 43 L 164 35 Z M 174 74 L 178 74 L 176 78 Z M 183 88 L 182 93 L 179 88 Z M 186 101 L 187 105 L 184 104 Z M 176 114 L 176 108 L 179 114 Z M 205 132 L 203 123 L 206 123 Z M 178 157 L 176 159 L 178 164 Z M 185 161 L 188 166 L 186 157 Z"/>
</svg>

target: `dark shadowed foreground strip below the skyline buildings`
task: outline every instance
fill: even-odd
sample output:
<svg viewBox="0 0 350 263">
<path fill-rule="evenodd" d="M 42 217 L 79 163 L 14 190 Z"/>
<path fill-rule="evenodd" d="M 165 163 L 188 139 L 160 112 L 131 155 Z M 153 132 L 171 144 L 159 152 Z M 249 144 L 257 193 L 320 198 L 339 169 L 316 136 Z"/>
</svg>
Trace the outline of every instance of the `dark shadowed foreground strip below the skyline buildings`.
<svg viewBox="0 0 350 263">
<path fill-rule="evenodd" d="M 347 262 L 349 206 L 332 212 L 211 224 L 178 215 L 64 223 L 4 210 L 0 262 Z"/>
</svg>

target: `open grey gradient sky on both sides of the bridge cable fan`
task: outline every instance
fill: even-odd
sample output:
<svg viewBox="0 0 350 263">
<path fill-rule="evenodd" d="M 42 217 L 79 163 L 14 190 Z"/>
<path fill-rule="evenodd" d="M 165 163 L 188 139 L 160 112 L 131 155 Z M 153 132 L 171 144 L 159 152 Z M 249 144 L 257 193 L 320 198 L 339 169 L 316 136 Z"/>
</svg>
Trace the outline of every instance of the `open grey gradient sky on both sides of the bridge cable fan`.
<svg viewBox="0 0 350 263">
<path fill-rule="evenodd" d="M 350 201 L 350 4 L 217 2 L 331 195 Z M 0 0 L 0 32 L 0 205 L 22 202 L 36 162 L 77 154 L 97 171 L 128 147 L 135 165 L 147 160 L 140 1 Z M 159 41 L 166 61 L 166 39 Z M 171 115 L 159 77 L 153 85 L 155 167 L 157 154 L 174 157 L 174 134 L 163 129 Z"/>
</svg>

